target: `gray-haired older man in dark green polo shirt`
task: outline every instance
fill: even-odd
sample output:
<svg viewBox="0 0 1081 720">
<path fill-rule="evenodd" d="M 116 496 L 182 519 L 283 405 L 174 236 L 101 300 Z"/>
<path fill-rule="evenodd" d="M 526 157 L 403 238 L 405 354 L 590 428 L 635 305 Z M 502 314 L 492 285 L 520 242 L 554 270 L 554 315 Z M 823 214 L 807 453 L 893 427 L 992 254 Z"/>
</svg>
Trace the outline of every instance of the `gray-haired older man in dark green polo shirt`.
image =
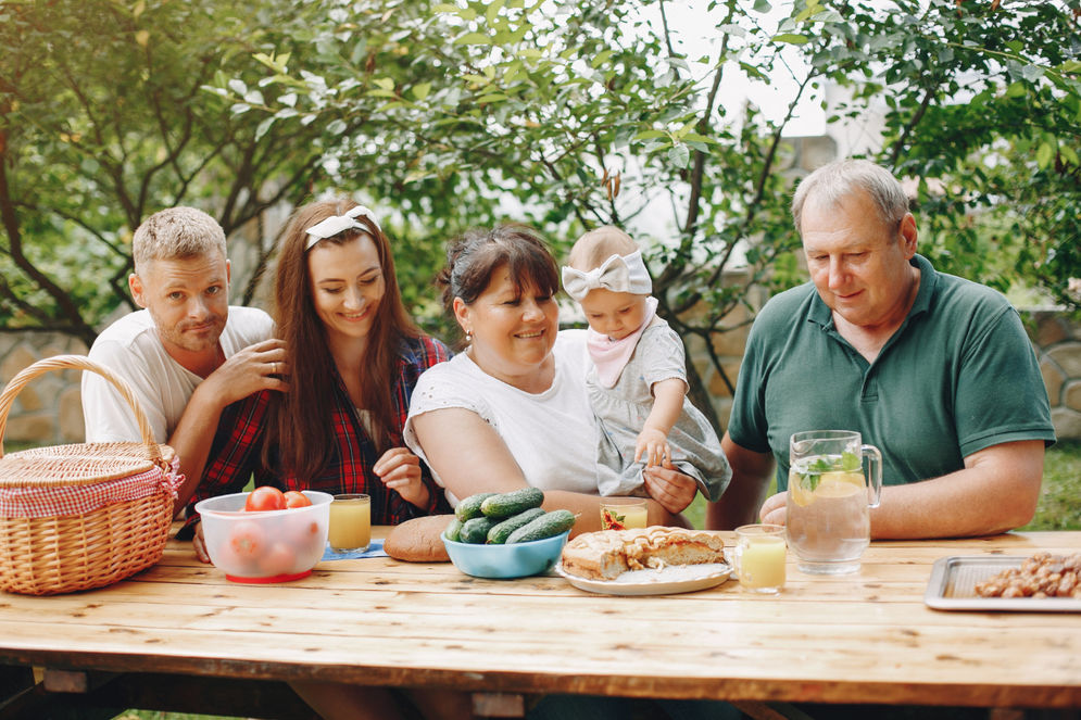
<svg viewBox="0 0 1081 720">
<path fill-rule="evenodd" d="M 908 198 L 887 169 L 842 160 L 792 201 L 810 282 L 751 329 L 721 441 L 732 482 L 708 527 L 785 520 L 789 438 L 855 430 L 882 451 L 873 538 L 1003 532 L 1035 511 L 1047 392 L 1017 311 L 916 253 Z M 778 494 L 762 503 L 774 468 Z"/>
</svg>

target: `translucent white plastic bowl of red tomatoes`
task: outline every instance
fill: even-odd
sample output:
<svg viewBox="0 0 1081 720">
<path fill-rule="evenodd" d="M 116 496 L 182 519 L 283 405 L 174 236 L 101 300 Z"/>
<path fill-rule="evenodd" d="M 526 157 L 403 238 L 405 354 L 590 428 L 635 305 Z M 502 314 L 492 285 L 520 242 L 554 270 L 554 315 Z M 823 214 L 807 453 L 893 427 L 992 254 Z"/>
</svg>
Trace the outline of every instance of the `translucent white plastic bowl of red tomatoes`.
<svg viewBox="0 0 1081 720">
<path fill-rule="evenodd" d="M 315 490 L 256 488 L 200 501 L 196 511 L 211 563 L 228 580 L 288 582 L 311 574 L 323 557 L 331 500 Z"/>
</svg>

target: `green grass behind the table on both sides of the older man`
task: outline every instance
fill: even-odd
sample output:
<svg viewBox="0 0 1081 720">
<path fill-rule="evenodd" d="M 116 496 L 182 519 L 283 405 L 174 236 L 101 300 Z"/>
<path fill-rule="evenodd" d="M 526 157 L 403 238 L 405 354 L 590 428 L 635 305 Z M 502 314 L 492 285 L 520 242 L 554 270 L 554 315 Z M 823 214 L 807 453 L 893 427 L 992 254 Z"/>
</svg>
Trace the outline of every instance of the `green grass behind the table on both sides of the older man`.
<svg viewBox="0 0 1081 720">
<path fill-rule="evenodd" d="M 770 493 L 775 491 L 771 485 Z M 683 515 L 695 528 L 704 528 L 705 510 L 700 494 Z M 1035 517 L 1019 530 L 1081 530 L 1081 442 L 1059 442 L 1047 450 Z"/>
</svg>

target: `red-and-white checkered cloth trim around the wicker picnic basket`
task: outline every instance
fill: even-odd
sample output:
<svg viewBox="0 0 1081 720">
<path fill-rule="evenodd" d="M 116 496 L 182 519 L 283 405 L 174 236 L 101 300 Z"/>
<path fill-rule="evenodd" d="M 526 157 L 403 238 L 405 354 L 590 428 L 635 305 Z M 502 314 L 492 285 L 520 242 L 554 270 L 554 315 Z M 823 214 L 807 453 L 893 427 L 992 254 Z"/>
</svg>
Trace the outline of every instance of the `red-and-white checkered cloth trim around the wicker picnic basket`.
<svg viewBox="0 0 1081 720">
<path fill-rule="evenodd" d="M 168 471 L 153 467 L 139 475 L 104 480 L 87 485 L 62 488 L 0 488 L 0 516 L 5 518 L 51 518 L 86 515 L 114 503 L 146 497 L 161 490 L 176 500 L 184 482 L 176 457 Z"/>
</svg>

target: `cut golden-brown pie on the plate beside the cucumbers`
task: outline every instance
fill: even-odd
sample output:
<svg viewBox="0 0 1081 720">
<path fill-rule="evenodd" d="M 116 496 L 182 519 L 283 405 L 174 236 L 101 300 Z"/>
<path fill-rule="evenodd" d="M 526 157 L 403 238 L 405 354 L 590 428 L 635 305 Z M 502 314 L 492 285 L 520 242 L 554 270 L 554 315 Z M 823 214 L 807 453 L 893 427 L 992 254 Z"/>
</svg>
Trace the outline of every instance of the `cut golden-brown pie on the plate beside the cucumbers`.
<svg viewBox="0 0 1081 720">
<path fill-rule="evenodd" d="M 719 533 L 653 526 L 578 535 L 563 548 L 563 569 L 590 580 L 614 580 L 627 570 L 725 561 Z"/>
</svg>

